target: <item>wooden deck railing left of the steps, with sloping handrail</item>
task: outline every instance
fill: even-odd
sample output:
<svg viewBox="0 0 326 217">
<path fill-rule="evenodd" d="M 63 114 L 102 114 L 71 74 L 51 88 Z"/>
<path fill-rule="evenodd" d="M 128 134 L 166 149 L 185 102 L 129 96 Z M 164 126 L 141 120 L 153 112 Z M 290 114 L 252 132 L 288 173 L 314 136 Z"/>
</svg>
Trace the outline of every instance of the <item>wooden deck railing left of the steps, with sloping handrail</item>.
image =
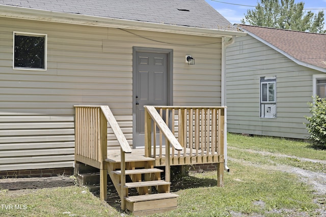
<svg viewBox="0 0 326 217">
<path fill-rule="evenodd" d="M 75 107 L 75 161 L 100 169 L 100 199 L 106 200 L 107 123 L 121 150 L 121 192 L 125 185 L 125 153 L 131 153 L 117 120 L 108 106 Z M 124 198 L 125 195 L 122 195 Z M 121 200 L 123 201 L 123 200 Z"/>
</svg>

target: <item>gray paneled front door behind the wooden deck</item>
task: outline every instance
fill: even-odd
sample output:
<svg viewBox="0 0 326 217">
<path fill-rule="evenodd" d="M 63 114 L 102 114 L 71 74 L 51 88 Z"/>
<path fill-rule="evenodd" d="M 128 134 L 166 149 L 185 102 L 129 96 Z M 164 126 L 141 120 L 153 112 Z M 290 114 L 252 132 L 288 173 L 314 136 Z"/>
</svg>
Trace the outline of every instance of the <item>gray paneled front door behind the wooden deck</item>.
<svg viewBox="0 0 326 217">
<path fill-rule="evenodd" d="M 133 147 L 144 147 L 144 105 L 168 105 L 168 54 L 136 52 Z"/>
</svg>

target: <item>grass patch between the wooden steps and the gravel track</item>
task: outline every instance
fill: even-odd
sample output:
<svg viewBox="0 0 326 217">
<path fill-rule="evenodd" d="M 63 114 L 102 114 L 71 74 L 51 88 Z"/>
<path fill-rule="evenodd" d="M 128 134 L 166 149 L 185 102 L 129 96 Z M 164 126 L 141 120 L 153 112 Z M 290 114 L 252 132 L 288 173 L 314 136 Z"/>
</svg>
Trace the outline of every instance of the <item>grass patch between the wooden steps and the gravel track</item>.
<svg viewBox="0 0 326 217">
<path fill-rule="evenodd" d="M 312 190 L 294 175 L 271 172 L 230 162 L 225 187 L 199 187 L 180 190 L 178 208 L 156 216 L 231 216 L 232 213 L 282 216 L 273 210 L 299 213 L 317 208 Z M 215 184 L 216 172 L 194 174 Z M 213 180 L 213 181 L 212 181 Z M 255 205 L 256 203 L 260 205 Z M 287 211 L 284 211 L 287 210 Z"/>
</svg>

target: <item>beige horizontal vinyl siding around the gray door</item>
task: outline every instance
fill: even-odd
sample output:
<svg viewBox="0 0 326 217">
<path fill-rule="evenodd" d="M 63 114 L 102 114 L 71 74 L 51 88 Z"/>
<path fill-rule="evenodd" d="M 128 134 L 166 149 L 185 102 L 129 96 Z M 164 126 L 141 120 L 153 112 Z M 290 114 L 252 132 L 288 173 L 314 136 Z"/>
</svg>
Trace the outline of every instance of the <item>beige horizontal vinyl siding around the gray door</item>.
<svg viewBox="0 0 326 217">
<path fill-rule="evenodd" d="M 47 34 L 46 71 L 12 69 L 14 31 Z M 0 170 L 72 167 L 74 105 L 110 106 L 132 145 L 133 46 L 173 49 L 174 105 L 221 105 L 220 38 L 128 31 L 0 19 Z"/>
</svg>

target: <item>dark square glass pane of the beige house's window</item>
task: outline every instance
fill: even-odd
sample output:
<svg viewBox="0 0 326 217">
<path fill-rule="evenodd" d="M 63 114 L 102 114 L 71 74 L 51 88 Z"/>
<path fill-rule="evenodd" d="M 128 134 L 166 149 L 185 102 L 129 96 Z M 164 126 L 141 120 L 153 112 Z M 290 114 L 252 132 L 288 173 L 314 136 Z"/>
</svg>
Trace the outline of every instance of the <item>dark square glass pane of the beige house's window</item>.
<svg viewBox="0 0 326 217">
<path fill-rule="evenodd" d="M 15 36 L 15 67 L 44 69 L 45 38 Z"/>
</svg>

